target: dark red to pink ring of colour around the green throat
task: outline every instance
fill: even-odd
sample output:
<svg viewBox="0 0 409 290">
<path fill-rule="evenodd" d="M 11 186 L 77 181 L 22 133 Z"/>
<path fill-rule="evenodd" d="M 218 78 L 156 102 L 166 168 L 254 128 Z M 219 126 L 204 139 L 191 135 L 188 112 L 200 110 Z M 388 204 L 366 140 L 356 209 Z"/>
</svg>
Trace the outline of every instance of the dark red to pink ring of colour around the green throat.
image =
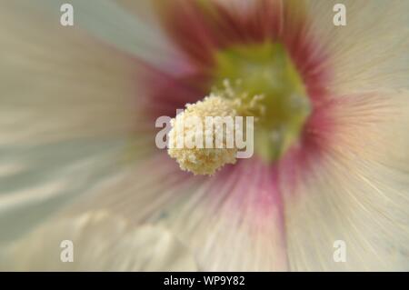
<svg viewBox="0 0 409 290">
<path fill-rule="evenodd" d="M 183 108 L 186 103 L 194 103 L 208 94 L 208 73 L 214 65 L 212 57 L 216 49 L 266 40 L 281 42 L 303 77 L 313 112 L 299 144 L 294 145 L 280 162 L 266 165 L 265 170 L 275 185 L 271 189 L 273 195 L 279 192 L 282 180 L 299 182 L 299 176 L 308 172 L 309 166 L 319 160 L 331 143 L 334 130 L 332 112 L 336 105 L 326 89 L 331 79 L 328 55 L 312 33 L 307 15 L 300 14 L 300 11 L 295 13 L 291 10 L 293 7 L 281 0 L 254 1 L 254 5 L 245 11 L 235 9 L 234 5 L 216 2 L 210 10 L 206 10 L 197 1 L 175 1 L 165 7 L 165 28 L 191 60 L 193 69 L 189 73 L 173 76 L 158 74 L 154 70 L 147 74 L 148 111 L 153 116 L 174 116 L 177 108 Z M 248 165 L 249 162 L 240 160 L 238 165 L 226 166 L 217 175 L 236 171 L 242 164 Z M 264 198 L 265 204 L 269 203 L 270 199 L 265 196 L 261 198 Z M 273 200 L 279 204 L 276 197 Z"/>
</svg>

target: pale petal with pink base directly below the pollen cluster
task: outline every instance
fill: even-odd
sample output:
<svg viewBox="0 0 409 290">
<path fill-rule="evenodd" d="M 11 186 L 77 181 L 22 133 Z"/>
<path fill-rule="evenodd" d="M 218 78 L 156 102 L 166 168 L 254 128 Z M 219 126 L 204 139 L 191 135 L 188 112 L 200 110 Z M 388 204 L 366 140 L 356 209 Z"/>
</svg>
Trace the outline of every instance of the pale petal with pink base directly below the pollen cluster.
<svg viewBox="0 0 409 290">
<path fill-rule="evenodd" d="M 230 174 L 205 179 L 158 157 L 128 168 L 69 212 L 107 209 L 135 226 L 160 225 L 190 248 L 199 270 L 286 269 L 283 213 L 279 196 L 268 191 L 271 172 L 257 161 L 227 169 Z"/>
</svg>

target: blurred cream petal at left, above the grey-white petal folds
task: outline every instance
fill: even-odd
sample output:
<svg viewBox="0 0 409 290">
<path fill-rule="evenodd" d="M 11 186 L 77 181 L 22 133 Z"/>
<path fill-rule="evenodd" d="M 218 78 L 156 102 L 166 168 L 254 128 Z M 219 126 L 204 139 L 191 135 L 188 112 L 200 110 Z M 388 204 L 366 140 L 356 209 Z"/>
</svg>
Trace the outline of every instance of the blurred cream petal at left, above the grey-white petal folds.
<svg viewBox="0 0 409 290">
<path fill-rule="evenodd" d="M 4 8 L 0 145 L 117 137 L 135 128 L 136 62 L 54 17 Z"/>
</svg>

